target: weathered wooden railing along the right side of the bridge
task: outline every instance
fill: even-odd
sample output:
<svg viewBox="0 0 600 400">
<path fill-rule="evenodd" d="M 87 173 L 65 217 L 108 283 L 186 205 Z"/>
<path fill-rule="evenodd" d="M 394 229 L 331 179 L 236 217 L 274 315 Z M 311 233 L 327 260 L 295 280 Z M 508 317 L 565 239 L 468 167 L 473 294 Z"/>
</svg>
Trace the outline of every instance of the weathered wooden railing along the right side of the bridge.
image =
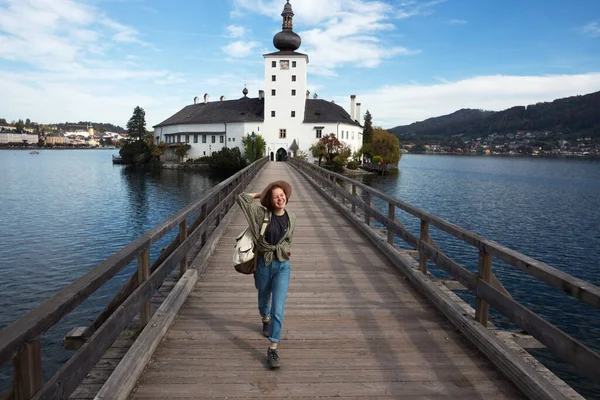
<svg viewBox="0 0 600 400">
<path fill-rule="evenodd" d="M 307 178 L 312 179 L 319 190 L 331 195 L 333 199 L 338 199 L 341 206 L 338 208 L 341 211 L 354 215 L 359 209 L 364 214 L 366 226 L 371 228 L 372 221 L 383 225 L 387 229 L 387 242 L 383 245 L 387 247 L 382 245 L 380 249 L 388 251 L 392 248 L 397 236 L 413 249 L 418 250 L 418 269 L 423 274 L 419 279 L 426 279 L 428 265 L 433 264 L 470 290 L 477 298 L 475 319 L 481 325 L 487 325 L 488 310 L 491 305 L 555 355 L 573 365 L 593 381 L 600 383 L 600 355 L 514 300 L 492 273 L 493 258 L 504 261 L 595 308 L 600 308 L 600 288 L 343 175 L 298 159 L 290 159 L 290 164 Z M 348 190 L 339 185 L 342 182 Z M 357 188 L 362 191 L 364 200 L 357 195 Z M 372 205 L 372 201 L 376 198 L 383 204 L 387 203 L 387 215 Z M 398 220 L 396 209 L 403 210 L 420 220 L 418 235 L 409 232 Z M 435 244 L 430 233 L 432 227 L 460 239 L 479 251 L 477 274 L 450 258 Z"/>
</svg>

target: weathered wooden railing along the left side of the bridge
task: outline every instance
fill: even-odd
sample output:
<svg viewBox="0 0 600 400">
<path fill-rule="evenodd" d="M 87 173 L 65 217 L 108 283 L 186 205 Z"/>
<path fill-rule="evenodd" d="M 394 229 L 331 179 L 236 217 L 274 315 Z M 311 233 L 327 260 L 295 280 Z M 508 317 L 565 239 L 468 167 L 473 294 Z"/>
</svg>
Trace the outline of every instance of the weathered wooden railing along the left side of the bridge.
<svg viewBox="0 0 600 400">
<path fill-rule="evenodd" d="M 256 161 L 215 186 L 201 199 L 158 224 L 116 254 L 98 264 L 83 277 L 0 332 L 0 366 L 12 361 L 13 387 L 1 399 L 66 399 L 94 367 L 121 331 L 136 315 L 145 326 L 150 320 L 150 300 L 169 273 L 179 266 L 180 276 L 189 264 L 192 246 L 205 246 L 210 229 L 221 222 L 235 204 L 235 196 L 266 164 Z M 188 226 L 188 219 L 193 222 Z M 150 263 L 150 248 L 174 229 L 179 234 L 160 256 Z M 202 247 L 201 247 L 202 248 Z M 202 252 L 200 252 L 202 254 Z M 75 307 L 137 259 L 138 270 L 123 285 L 109 305 L 86 328 L 85 343 L 63 367 L 44 384 L 40 337 Z"/>
</svg>

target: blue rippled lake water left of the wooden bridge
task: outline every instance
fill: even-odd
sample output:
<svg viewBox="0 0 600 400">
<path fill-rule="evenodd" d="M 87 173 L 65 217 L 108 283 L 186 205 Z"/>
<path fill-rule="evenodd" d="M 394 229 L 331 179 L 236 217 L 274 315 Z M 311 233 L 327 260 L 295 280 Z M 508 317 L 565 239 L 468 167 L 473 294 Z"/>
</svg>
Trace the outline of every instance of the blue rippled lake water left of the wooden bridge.
<svg viewBox="0 0 600 400">
<path fill-rule="evenodd" d="M 113 165 L 112 154 L 0 151 L 0 329 L 222 180 L 208 173 L 135 171 Z M 46 379 L 72 354 L 63 350 L 62 337 L 89 325 L 135 268 L 42 337 Z M 12 382 L 10 369 L 2 371 L 0 393 Z"/>
</svg>

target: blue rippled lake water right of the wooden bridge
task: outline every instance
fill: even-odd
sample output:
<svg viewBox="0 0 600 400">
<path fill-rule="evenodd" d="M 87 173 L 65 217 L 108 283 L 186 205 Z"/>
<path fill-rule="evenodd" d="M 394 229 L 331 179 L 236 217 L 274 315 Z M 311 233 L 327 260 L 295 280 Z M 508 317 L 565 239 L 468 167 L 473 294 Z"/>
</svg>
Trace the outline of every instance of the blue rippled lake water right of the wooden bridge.
<svg viewBox="0 0 600 400">
<path fill-rule="evenodd" d="M 360 180 L 600 286 L 600 160 L 403 155 L 399 166 L 398 175 Z M 387 214 L 387 204 L 378 206 Z M 418 219 L 404 212 L 397 215 L 412 233 L 419 234 Z M 477 271 L 477 251 L 431 229 L 446 253 Z M 600 310 L 497 259 L 494 272 L 516 300 L 600 351 Z M 445 275 L 433 268 L 432 273 Z M 474 305 L 472 296 L 457 294 Z M 498 325 L 514 328 L 497 313 L 492 317 Z M 600 399 L 599 386 L 547 351 L 532 354 L 587 398 Z"/>
</svg>

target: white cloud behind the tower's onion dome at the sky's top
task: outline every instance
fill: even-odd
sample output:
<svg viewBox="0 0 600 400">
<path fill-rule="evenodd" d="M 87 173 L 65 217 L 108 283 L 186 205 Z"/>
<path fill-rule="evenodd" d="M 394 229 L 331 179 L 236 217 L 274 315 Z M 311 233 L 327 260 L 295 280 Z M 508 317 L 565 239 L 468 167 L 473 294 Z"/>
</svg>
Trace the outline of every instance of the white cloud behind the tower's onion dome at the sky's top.
<svg viewBox="0 0 600 400">
<path fill-rule="evenodd" d="M 393 19 L 426 15 L 443 1 L 406 2 L 392 6 L 383 1 L 322 0 L 293 3 L 294 26 L 299 30 L 301 52 L 310 54 L 310 73 L 335 76 L 337 68 L 353 66 L 373 68 L 398 55 L 419 53 L 396 43 L 385 42 L 381 32 L 395 29 Z M 280 0 L 234 0 L 234 15 L 257 12 L 281 20 Z"/>
</svg>

